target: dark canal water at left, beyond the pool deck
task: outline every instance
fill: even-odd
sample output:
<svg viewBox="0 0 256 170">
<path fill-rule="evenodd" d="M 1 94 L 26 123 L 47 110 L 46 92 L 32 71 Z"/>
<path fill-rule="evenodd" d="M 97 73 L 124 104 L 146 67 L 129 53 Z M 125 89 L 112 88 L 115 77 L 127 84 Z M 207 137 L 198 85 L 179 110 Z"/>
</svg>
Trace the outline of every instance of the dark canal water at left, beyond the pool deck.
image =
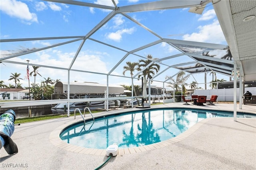
<svg viewBox="0 0 256 170">
<path fill-rule="evenodd" d="M 32 117 L 41 116 L 41 115 L 50 115 L 52 114 L 51 107 L 53 106 L 51 105 L 43 106 L 43 107 L 32 106 L 31 115 Z M 29 117 L 28 107 L 12 107 L 10 109 L 12 109 L 15 112 L 16 119 Z M 7 110 L 9 109 L 1 109 L 1 114 Z"/>
</svg>

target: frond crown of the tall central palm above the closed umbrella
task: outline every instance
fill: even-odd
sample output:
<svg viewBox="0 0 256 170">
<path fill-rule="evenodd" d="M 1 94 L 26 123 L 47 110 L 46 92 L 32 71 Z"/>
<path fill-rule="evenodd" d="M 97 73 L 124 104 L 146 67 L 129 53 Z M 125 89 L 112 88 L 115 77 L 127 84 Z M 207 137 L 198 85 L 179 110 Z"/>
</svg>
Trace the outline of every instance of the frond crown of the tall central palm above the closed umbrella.
<svg viewBox="0 0 256 170">
<path fill-rule="evenodd" d="M 143 68 L 145 68 L 146 66 L 148 66 L 148 64 L 150 64 L 151 62 L 152 62 L 152 60 L 156 60 L 156 59 L 153 59 L 153 57 L 152 57 L 152 55 L 148 55 L 147 56 L 147 60 L 143 60 L 143 59 L 140 59 L 139 60 L 139 65 L 138 65 L 138 67 L 142 70 Z M 144 76 L 144 77 L 146 77 L 147 78 L 147 80 L 148 79 L 151 79 L 151 78 L 153 78 L 153 76 L 155 75 L 155 74 L 157 74 L 158 73 L 158 71 L 160 70 L 160 65 L 159 64 L 156 64 L 156 63 L 153 63 L 153 64 L 151 64 L 150 66 L 148 66 L 148 68 L 146 68 L 143 72 L 142 72 L 142 74 L 140 74 L 139 76 L 138 76 L 138 78 L 140 78 L 141 76 Z"/>
</svg>

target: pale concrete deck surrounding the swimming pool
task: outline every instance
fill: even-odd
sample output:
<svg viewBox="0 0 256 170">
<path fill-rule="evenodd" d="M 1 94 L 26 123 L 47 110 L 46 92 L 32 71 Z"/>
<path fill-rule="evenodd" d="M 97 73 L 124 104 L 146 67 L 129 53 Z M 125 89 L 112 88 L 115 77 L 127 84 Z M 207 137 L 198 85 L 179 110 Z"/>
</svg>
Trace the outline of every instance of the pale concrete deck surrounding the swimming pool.
<svg viewBox="0 0 256 170">
<path fill-rule="evenodd" d="M 194 106 L 183 105 L 183 102 L 180 102 L 151 108 L 155 107 L 232 111 L 234 105 Z M 237 105 L 238 112 L 256 114 L 256 105 L 243 105 L 242 108 L 240 110 Z M 135 110 L 137 108 L 101 112 L 95 115 Z M 104 155 L 104 151 L 100 153 L 96 150 L 89 151 L 70 144 L 62 146 L 56 138 L 60 127 L 76 121 L 82 121 L 82 118 L 77 116 L 74 120 L 74 117 L 65 117 L 16 125 L 12 140 L 17 144 L 19 152 L 8 155 L 2 148 L 1 169 L 92 170 L 98 168 L 108 158 Z M 140 150 L 119 150 L 118 155 L 110 158 L 102 170 L 256 169 L 256 119 L 237 118 L 237 121 L 233 121 L 232 117 L 204 119 L 185 133 L 161 143 Z"/>
</svg>

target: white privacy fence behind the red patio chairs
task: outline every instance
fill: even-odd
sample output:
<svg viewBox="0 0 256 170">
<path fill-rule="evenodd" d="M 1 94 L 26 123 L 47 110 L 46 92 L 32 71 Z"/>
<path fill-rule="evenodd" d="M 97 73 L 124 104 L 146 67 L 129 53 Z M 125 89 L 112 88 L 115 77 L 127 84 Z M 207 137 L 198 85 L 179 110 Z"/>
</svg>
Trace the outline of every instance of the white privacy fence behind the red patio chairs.
<svg viewBox="0 0 256 170">
<path fill-rule="evenodd" d="M 252 95 L 256 95 L 256 87 L 246 87 L 244 92 L 249 91 Z M 217 95 L 217 101 L 219 102 L 233 102 L 234 101 L 234 89 L 224 88 L 224 89 L 210 89 L 210 90 L 195 90 L 195 95 L 202 95 L 210 97 L 211 95 Z M 236 100 L 239 102 L 239 88 L 236 89 Z"/>
</svg>

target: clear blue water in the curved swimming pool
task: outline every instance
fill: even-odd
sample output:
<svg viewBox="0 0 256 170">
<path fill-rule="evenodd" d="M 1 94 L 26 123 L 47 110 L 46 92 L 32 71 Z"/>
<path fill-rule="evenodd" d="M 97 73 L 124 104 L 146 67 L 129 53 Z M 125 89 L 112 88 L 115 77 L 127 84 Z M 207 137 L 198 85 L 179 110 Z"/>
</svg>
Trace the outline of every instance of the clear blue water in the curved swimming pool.
<svg viewBox="0 0 256 170">
<path fill-rule="evenodd" d="M 106 149 L 116 143 L 119 148 L 138 147 L 176 137 L 198 121 L 208 117 L 233 117 L 230 112 L 196 109 L 150 109 L 111 115 L 72 125 L 60 138 L 73 145 Z M 256 117 L 237 114 L 237 117 Z"/>
</svg>

